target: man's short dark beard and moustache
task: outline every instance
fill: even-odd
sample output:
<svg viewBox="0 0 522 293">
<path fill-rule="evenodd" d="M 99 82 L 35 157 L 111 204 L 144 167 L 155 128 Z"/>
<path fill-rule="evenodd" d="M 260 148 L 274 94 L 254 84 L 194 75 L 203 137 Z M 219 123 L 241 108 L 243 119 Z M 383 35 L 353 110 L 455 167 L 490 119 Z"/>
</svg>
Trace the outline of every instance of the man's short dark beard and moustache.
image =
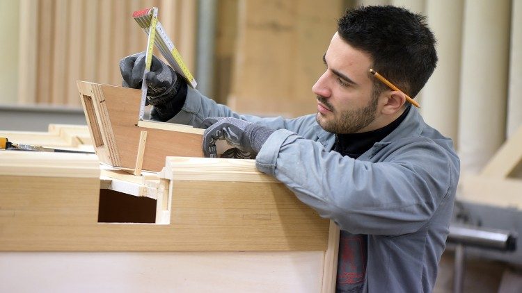
<svg viewBox="0 0 522 293">
<path fill-rule="evenodd" d="M 319 117 L 321 113 L 317 112 L 315 119 L 317 123 L 325 130 L 331 133 L 356 133 L 362 128 L 372 123 L 377 112 L 377 97 L 372 94 L 372 100 L 364 108 L 356 110 L 347 110 L 345 112 L 336 112 L 328 99 L 317 96 L 317 100 L 328 107 L 334 114 L 333 121 L 321 122 Z"/>
</svg>

